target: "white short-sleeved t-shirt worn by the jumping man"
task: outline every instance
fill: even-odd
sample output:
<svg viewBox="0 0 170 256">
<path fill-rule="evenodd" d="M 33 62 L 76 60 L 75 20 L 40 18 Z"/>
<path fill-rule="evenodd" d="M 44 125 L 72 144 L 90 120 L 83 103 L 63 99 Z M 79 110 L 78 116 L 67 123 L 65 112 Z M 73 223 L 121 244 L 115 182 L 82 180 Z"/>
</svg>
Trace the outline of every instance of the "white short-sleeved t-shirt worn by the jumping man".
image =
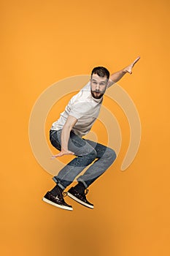
<svg viewBox="0 0 170 256">
<path fill-rule="evenodd" d="M 88 82 L 78 94 L 75 94 L 72 99 L 70 99 L 69 104 L 66 105 L 60 118 L 53 123 L 51 129 L 62 129 L 68 116 L 74 116 L 77 118 L 77 123 L 72 128 L 72 131 L 80 137 L 86 135 L 98 117 L 102 101 L 103 97 L 101 97 L 101 99 L 92 97 L 90 82 Z"/>
</svg>

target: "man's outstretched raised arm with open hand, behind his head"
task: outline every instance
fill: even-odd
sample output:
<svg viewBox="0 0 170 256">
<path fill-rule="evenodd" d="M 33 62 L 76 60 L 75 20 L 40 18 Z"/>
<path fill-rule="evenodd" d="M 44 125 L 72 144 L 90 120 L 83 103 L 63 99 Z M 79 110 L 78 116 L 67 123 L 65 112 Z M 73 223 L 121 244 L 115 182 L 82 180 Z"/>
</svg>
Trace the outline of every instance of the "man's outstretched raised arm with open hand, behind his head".
<svg viewBox="0 0 170 256">
<path fill-rule="evenodd" d="M 132 62 L 127 67 L 124 67 L 124 69 L 121 69 L 120 71 L 117 71 L 110 75 L 109 77 L 109 84 L 107 87 L 112 86 L 112 84 L 117 83 L 121 78 L 123 78 L 123 75 L 126 73 L 132 74 L 132 69 L 134 67 L 134 64 L 136 64 L 137 61 L 139 61 L 140 57 L 136 58 L 134 62 Z"/>
</svg>

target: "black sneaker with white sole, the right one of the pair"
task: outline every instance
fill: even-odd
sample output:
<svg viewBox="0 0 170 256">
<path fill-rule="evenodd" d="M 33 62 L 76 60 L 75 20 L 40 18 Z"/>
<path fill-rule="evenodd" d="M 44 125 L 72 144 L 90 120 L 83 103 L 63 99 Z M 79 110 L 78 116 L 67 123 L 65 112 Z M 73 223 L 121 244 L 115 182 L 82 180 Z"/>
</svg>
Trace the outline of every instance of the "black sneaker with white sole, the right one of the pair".
<svg viewBox="0 0 170 256">
<path fill-rule="evenodd" d="M 83 206 L 93 209 L 94 208 L 93 204 L 89 203 L 85 197 L 85 195 L 88 194 L 88 189 L 85 189 L 85 190 L 86 190 L 85 192 L 80 193 L 80 192 L 77 192 L 77 190 L 74 189 L 74 187 L 71 187 L 71 189 L 69 189 L 69 191 L 67 192 L 67 195 L 69 195 L 69 197 L 71 197 L 78 203 L 81 203 Z"/>
</svg>

